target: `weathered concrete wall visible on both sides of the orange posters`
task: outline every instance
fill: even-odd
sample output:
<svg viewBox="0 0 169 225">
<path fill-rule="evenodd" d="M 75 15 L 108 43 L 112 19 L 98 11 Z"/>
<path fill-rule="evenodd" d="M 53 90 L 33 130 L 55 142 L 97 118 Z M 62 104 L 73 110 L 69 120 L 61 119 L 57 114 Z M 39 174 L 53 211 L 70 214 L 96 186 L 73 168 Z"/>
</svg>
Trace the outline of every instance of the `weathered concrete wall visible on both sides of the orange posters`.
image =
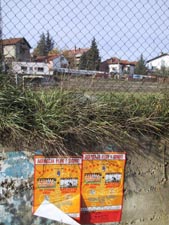
<svg viewBox="0 0 169 225">
<path fill-rule="evenodd" d="M 124 205 L 119 225 L 168 225 L 169 148 L 149 140 L 138 143 L 134 150 L 125 147 Z M 57 224 L 32 215 L 33 153 L 5 152 L 0 148 L 0 225 Z"/>
</svg>

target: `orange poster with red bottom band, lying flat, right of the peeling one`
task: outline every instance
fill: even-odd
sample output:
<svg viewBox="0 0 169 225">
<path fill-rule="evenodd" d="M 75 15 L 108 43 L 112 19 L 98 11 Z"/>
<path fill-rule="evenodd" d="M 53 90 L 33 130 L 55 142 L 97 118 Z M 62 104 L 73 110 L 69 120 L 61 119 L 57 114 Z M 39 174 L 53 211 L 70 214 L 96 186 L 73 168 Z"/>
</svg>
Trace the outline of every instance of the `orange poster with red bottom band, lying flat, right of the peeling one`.
<svg viewBox="0 0 169 225">
<path fill-rule="evenodd" d="M 125 153 L 83 154 L 82 224 L 120 222 L 125 161 Z"/>
</svg>

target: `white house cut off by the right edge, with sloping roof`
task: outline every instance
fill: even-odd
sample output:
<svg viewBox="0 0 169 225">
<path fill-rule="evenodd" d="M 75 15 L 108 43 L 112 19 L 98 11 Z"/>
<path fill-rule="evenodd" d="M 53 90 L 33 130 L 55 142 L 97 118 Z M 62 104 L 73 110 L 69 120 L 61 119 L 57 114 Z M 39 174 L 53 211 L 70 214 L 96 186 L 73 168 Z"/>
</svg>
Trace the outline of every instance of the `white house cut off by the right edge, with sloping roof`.
<svg viewBox="0 0 169 225">
<path fill-rule="evenodd" d="M 169 68 L 169 54 L 161 54 L 153 59 L 146 62 L 146 67 L 148 70 L 155 71 L 161 70 L 163 67 Z"/>
</svg>

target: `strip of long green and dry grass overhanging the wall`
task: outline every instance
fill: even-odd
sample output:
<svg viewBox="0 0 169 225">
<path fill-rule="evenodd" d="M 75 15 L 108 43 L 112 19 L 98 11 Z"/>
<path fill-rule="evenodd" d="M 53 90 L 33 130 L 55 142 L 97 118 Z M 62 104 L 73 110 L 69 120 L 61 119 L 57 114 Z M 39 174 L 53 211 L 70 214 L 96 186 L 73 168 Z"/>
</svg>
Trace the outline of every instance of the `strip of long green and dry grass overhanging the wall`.
<svg viewBox="0 0 169 225">
<path fill-rule="evenodd" d="M 169 93 L 90 93 L 0 90 L 3 145 L 76 154 L 103 143 L 130 144 L 136 136 L 168 138 Z"/>
</svg>

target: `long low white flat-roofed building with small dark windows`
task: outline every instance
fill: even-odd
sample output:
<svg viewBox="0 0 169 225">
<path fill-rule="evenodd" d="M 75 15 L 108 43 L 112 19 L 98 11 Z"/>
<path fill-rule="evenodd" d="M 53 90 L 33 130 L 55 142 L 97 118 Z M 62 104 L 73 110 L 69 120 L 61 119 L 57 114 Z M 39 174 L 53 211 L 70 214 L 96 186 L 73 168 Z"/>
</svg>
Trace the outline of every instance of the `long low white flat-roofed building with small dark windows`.
<svg viewBox="0 0 169 225">
<path fill-rule="evenodd" d="M 43 62 L 12 62 L 12 72 L 30 75 L 52 75 L 48 64 Z"/>
</svg>

